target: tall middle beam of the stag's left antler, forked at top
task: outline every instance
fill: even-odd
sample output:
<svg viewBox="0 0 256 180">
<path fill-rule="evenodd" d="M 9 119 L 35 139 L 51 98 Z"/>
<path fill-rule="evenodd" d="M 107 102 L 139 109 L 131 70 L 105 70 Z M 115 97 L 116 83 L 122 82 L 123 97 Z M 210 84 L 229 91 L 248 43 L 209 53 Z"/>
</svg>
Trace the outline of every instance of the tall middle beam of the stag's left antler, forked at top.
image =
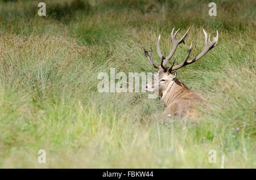
<svg viewBox="0 0 256 180">
<path fill-rule="evenodd" d="M 172 32 L 171 32 L 172 50 L 171 50 L 170 54 L 166 57 L 166 59 L 164 59 L 164 62 L 163 62 L 164 66 L 167 65 L 168 60 L 172 58 L 172 55 L 174 55 L 174 52 L 177 49 L 177 45 L 179 45 L 182 42 L 185 44 L 184 40 L 187 37 L 188 32 L 190 31 L 190 29 L 191 29 L 191 27 L 188 28 L 187 32 L 185 32 L 185 34 L 183 35 L 183 37 L 180 38 L 179 41 L 175 40 L 175 37 L 176 37 L 177 32 L 179 31 L 179 29 L 175 32 L 175 34 L 174 34 L 174 28 L 172 29 Z"/>
</svg>

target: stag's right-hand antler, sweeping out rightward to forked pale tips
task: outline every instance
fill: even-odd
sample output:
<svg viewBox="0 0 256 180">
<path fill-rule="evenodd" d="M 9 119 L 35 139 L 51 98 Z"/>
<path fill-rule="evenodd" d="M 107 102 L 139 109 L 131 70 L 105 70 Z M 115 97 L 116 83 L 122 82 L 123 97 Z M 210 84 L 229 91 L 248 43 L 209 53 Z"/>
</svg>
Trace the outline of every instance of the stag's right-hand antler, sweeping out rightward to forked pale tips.
<svg viewBox="0 0 256 180">
<path fill-rule="evenodd" d="M 186 66 L 186 65 L 189 65 L 191 63 L 196 62 L 201 57 L 203 57 L 205 54 L 207 54 L 210 49 L 214 48 L 217 45 L 217 42 L 218 42 L 218 31 L 217 31 L 217 36 L 213 37 L 212 41 L 210 41 L 210 36 L 209 36 L 208 41 L 207 41 L 207 33 L 204 31 L 204 29 L 203 29 L 203 32 L 204 32 L 204 36 L 205 36 L 205 43 L 204 43 L 203 51 L 199 55 L 197 55 L 195 58 L 191 59 L 190 61 L 187 61 L 188 55 L 191 52 L 191 47 L 192 47 L 192 43 L 191 43 L 191 47 L 188 49 L 188 54 L 187 54 L 186 58 L 184 59 L 183 63 L 181 63 L 180 65 L 174 66 L 172 68 L 172 71 L 177 70 L 177 69 L 179 69 L 179 68 L 181 68 L 183 66 Z"/>
</svg>

